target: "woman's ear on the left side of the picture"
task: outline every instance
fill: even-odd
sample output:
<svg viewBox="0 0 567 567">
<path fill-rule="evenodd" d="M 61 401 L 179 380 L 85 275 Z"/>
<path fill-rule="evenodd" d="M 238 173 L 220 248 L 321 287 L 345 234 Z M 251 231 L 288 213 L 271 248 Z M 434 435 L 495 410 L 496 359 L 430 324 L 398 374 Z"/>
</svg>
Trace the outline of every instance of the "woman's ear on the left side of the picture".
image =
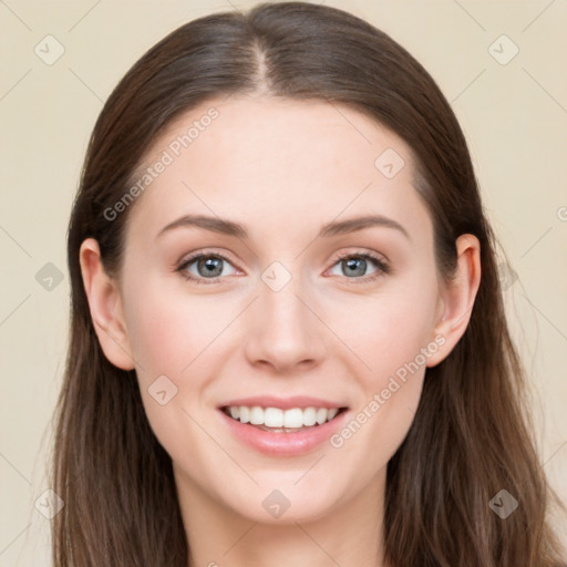
<svg viewBox="0 0 567 567">
<path fill-rule="evenodd" d="M 117 284 L 104 271 L 99 243 L 87 238 L 79 251 L 83 285 L 94 330 L 105 357 L 123 370 L 134 369 Z"/>
</svg>

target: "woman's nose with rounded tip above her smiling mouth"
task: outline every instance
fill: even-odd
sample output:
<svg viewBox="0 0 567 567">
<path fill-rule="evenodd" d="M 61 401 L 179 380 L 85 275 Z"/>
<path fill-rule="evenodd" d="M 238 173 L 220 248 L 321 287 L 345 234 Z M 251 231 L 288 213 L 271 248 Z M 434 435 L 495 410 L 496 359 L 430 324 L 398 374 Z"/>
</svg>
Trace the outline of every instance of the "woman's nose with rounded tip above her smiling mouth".
<svg viewBox="0 0 567 567">
<path fill-rule="evenodd" d="M 299 278 L 279 290 L 260 280 L 258 296 L 248 310 L 245 352 L 250 364 L 285 373 L 320 363 L 326 328 Z"/>
</svg>

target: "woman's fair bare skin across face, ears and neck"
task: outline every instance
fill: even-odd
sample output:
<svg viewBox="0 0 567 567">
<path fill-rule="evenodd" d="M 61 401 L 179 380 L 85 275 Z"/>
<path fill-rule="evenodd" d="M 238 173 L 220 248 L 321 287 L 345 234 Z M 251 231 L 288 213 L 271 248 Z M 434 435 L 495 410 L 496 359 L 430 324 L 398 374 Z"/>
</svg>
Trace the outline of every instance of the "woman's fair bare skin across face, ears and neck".
<svg viewBox="0 0 567 567">
<path fill-rule="evenodd" d="M 136 370 L 150 423 L 172 456 L 189 565 L 383 566 L 386 464 L 412 423 L 425 368 L 466 329 L 478 241 L 457 239 L 456 277 L 445 282 L 406 144 L 321 101 L 207 101 L 168 125 L 141 168 L 210 106 L 219 116 L 132 205 L 120 276 L 104 272 L 95 240 L 81 247 L 99 340 L 111 362 Z M 374 166 L 386 148 L 405 162 L 393 178 Z M 317 237 L 326 223 L 369 212 L 408 237 L 384 226 Z M 238 221 L 249 238 L 187 227 L 157 236 L 188 213 Z M 214 284 L 176 271 L 199 250 L 229 260 Z M 337 255 L 363 252 L 386 259 L 391 272 L 368 260 L 349 277 Z M 274 261 L 291 277 L 279 291 L 261 279 Z M 187 269 L 205 279 L 197 268 Z M 354 417 L 435 337 L 444 344 L 340 447 L 267 456 L 234 437 L 216 410 L 235 398 L 302 394 L 341 402 Z M 148 393 L 159 375 L 178 389 L 165 405 Z M 279 518 L 261 505 L 274 489 L 290 502 Z"/>
</svg>

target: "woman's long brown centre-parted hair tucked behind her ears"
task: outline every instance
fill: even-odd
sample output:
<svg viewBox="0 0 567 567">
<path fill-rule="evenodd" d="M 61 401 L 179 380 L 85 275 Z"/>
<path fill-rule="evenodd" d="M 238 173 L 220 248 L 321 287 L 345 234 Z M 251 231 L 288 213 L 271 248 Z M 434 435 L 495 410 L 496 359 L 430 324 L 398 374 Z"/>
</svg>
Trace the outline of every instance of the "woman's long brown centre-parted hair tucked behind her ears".
<svg viewBox="0 0 567 567">
<path fill-rule="evenodd" d="M 135 372 L 115 368 L 101 350 L 79 249 L 95 238 L 106 271 L 116 275 L 132 207 L 112 221 L 104 212 L 125 194 L 157 134 L 207 99 L 258 90 L 350 105 L 409 144 L 444 277 L 455 268 L 461 234 L 481 243 L 482 281 L 467 330 L 427 369 L 415 420 L 388 465 L 388 563 L 557 565 L 561 549 L 546 519 L 555 495 L 532 441 L 495 238 L 461 127 L 433 79 L 389 35 L 341 10 L 303 2 L 182 25 L 134 64 L 99 116 L 69 228 L 71 336 L 53 458 L 53 487 L 65 506 L 53 520 L 54 564 L 188 565 L 171 458 L 148 425 Z M 489 506 L 503 488 L 519 502 L 505 519 Z"/>
</svg>

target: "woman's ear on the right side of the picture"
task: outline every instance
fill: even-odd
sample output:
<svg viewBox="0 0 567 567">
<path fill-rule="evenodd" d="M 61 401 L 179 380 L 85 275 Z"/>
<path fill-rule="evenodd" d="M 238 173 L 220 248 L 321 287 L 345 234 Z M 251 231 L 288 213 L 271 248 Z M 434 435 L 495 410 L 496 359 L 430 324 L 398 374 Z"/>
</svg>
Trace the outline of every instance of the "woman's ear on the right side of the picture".
<svg viewBox="0 0 567 567">
<path fill-rule="evenodd" d="M 427 359 L 427 367 L 434 367 L 445 359 L 464 334 L 478 286 L 481 285 L 481 244 L 473 235 L 461 235 L 455 243 L 457 267 L 450 281 L 442 284 L 437 303 L 437 319 L 434 329 L 435 342 L 442 344 Z M 444 342 L 441 341 L 444 339 Z"/>
</svg>

